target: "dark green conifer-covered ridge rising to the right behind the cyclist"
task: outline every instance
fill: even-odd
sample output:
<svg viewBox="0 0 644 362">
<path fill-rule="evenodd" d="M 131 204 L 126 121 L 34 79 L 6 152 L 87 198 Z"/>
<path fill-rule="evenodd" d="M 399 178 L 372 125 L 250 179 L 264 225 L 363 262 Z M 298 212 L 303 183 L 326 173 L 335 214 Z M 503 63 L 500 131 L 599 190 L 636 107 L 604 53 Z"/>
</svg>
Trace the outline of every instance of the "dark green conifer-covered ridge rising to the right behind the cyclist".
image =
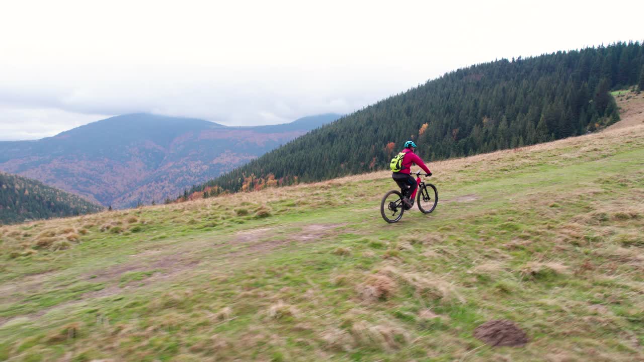
<svg viewBox="0 0 644 362">
<path fill-rule="evenodd" d="M 408 139 L 431 162 L 580 135 L 619 120 L 610 90 L 643 82 L 639 42 L 477 64 L 346 115 L 183 197 L 383 169 Z"/>
</svg>

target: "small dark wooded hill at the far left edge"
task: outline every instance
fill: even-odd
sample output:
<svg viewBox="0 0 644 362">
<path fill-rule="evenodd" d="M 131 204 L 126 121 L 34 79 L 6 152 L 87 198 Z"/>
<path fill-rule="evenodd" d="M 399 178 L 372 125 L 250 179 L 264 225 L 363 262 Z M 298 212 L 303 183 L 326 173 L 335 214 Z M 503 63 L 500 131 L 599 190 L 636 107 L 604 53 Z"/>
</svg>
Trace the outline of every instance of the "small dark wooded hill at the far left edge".
<svg viewBox="0 0 644 362">
<path fill-rule="evenodd" d="M 102 209 L 42 182 L 0 172 L 0 224 L 96 213 Z"/>
</svg>

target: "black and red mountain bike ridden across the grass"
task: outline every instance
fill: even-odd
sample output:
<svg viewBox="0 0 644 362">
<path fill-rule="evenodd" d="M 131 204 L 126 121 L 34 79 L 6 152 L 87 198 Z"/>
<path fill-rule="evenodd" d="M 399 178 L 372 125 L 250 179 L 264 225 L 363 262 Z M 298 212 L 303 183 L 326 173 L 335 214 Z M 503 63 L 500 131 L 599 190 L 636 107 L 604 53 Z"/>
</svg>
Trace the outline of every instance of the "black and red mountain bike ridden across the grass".
<svg viewBox="0 0 644 362">
<path fill-rule="evenodd" d="M 416 183 L 418 187 L 413 192 L 410 201 L 413 202 L 417 199 L 418 209 L 424 213 L 429 214 L 431 211 L 434 211 L 436 204 L 439 202 L 439 191 L 437 191 L 436 186 L 432 184 L 425 184 L 424 181 L 421 181 L 421 176 L 429 176 L 426 173 L 412 172 L 412 175 L 416 175 Z M 384 221 L 388 223 L 398 222 L 403 217 L 403 213 L 408 208 L 403 203 L 403 192 L 406 190 L 392 190 L 384 194 L 383 201 L 380 203 L 380 213 L 383 215 Z M 418 197 L 415 197 L 418 195 Z"/>
</svg>

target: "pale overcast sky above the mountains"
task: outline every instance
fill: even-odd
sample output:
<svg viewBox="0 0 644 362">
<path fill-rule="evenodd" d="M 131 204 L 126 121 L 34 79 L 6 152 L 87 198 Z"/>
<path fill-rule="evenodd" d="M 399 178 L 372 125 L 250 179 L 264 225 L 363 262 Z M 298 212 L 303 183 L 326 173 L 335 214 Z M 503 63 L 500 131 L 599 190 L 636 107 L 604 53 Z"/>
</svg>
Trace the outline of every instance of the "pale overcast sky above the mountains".
<svg viewBox="0 0 644 362">
<path fill-rule="evenodd" d="M 642 41 L 644 1 L 6 1 L 0 140 L 151 112 L 349 113 L 446 71 Z"/>
</svg>

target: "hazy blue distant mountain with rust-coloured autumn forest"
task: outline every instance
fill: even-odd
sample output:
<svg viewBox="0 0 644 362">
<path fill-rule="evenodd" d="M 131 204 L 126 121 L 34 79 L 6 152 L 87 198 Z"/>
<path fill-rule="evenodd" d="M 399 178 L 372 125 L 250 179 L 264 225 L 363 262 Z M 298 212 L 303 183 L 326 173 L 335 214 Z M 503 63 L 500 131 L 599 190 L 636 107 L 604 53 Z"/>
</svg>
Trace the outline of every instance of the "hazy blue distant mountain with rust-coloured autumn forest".
<svg viewBox="0 0 644 362">
<path fill-rule="evenodd" d="M 0 142 L 0 170 L 106 206 L 162 202 L 339 117 L 228 127 L 202 119 L 120 115 L 41 140 Z"/>
</svg>

